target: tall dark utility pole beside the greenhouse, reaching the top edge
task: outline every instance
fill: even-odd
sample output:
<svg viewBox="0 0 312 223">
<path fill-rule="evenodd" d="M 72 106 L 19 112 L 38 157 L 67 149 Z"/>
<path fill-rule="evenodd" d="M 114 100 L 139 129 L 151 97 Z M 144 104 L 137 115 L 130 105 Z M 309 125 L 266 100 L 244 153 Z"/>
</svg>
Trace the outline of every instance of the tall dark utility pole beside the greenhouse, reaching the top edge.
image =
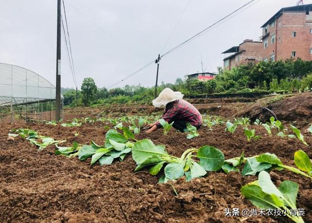
<svg viewBox="0 0 312 223">
<path fill-rule="evenodd" d="M 56 98 L 55 98 L 55 120 L 60 120 L 60 25 L 61 25 L 61 0 L 58 0 L 58 26 L 57 26 L 57 82 L 56 82 Z"/>
</svg>

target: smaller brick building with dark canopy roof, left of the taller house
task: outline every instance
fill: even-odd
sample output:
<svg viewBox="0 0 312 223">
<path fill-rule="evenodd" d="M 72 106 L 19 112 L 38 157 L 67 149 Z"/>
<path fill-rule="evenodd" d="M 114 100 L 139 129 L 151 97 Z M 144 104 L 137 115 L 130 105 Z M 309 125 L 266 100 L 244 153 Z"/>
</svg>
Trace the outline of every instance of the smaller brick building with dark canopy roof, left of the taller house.
<svg viewBox="0 0 312 223">
<path fill-rule="evenodd" d="M 223 67 L 227 70 L 232 70 L 233 67 L 241 64 L 257 63 L 261 61 L 262 42 L 245 39 L 239 46 L 234 46 L 222 54 L 225 54 L 223 59 Z M 228 54 L 231 54 L 227 56 Z"/>
</svg>

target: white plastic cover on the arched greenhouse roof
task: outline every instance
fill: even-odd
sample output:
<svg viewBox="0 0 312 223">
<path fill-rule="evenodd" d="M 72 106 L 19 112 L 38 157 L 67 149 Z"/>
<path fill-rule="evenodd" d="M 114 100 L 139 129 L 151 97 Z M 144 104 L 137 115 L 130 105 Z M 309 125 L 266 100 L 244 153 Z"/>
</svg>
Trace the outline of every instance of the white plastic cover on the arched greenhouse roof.
<svg viewBox="0 0 312 223">
<path fill-rule="evenodd" d="M 0 63 L 0 106 L 55 100 L 56 88 L 25 68 Z"/>
</svg>

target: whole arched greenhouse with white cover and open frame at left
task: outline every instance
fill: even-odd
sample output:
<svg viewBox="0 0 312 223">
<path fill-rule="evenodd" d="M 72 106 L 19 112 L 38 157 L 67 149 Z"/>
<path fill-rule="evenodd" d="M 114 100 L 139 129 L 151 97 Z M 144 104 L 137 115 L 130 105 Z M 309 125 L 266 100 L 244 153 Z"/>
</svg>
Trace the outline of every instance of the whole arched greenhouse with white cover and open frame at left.
<svg viewBox="0 0 312 223">
<path fill-rule="evenodd" d="M 54 120 L 55 97 L 55 86 L 39 74 L 16 65 L 0 63 L 2 122 Z"/>
</svg>

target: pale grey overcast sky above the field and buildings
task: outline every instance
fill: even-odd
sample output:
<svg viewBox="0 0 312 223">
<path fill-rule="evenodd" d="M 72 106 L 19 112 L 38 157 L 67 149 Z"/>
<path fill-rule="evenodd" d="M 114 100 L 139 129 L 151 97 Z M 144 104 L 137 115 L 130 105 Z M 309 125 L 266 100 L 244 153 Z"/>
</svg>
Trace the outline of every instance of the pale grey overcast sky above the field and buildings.
<svg viewBox="0 0 312 223">
<path fill-rule="evenodd" d="M 94 78 L 98 87 L 113 85 L 248 1 L 65 0 L 78 88 L 84 77 Z M 159 83 L 201 71 L 201 60 L 206 72 L 216 72 L 223 65 L 221 52 L 247 38 L 258 40 L 260 26 L 296 2 L 260 0 L 164 57 Z M 57 0 L 0 0 L 0 62 L 24 67 L 55 84 L 56 21 Z M 63 41 L 61 73 L 62 87 L 75 87 Z M 115 87 L 152 86 L 155 78 L 152 64 Z"/>
</svg>

